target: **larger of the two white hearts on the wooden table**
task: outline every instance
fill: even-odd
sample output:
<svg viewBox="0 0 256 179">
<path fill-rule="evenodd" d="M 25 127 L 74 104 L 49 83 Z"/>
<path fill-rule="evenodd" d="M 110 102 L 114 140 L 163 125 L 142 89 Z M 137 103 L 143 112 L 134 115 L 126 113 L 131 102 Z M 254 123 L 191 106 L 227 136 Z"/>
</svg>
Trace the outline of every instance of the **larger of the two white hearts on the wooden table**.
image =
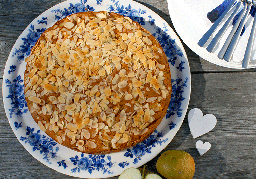
<svg viewBox="0 0 256 179">
<path fill-rule="evenodd" d="M 217 124 L 217 119 L 213 114 L 206 114 L 198 108 L 193 108 L 188 113 L 188 125 L 193 138 L 197 138 L 211 131 Z"/>
</svg>

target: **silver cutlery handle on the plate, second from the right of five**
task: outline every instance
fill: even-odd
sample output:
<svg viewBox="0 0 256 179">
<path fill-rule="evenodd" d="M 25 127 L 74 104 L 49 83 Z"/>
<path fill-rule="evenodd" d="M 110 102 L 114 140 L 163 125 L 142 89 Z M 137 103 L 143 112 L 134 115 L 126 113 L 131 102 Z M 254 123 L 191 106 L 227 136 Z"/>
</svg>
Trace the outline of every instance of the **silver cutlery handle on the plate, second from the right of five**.
<svg viewBox="0 0 256 179">
<path fill-rule="evenodd" d="M 235 49 L 237 47 L 239 37 L 241 35 L 241 32 L 243 30 L 244 24 L 246 22 L 246 19 L 248 17 L 248 14 L 250 12 L 251 7 L 252 7 L 251 5 L 247 6 L 247 11 L 246 11 L 246 13 L 245 13 L 245 15 L 243 17 L 243 20 L 241 21 L 241 23 L 240 23 L 240 25 L 239 25 L 239 27 L 237 29 L 237 32 L 234 35 L 234 37 L 233 37 L 233 39 L 232 39 L 232 41 L 231 41 L 231 43 L 230 43 L 230 45 L 228 47 L 228 50 L 227 50 L 227 52 L 226 52 L 226 54 L 225 54 L 225 56 L 223 58 L 227 62 L 229 62 L 231 60 L 231 57 L 232 57 L 232 55 L 233 55 L 233 53 L 234 53 L 234 51 L 235 51 Z"/>
</svg>

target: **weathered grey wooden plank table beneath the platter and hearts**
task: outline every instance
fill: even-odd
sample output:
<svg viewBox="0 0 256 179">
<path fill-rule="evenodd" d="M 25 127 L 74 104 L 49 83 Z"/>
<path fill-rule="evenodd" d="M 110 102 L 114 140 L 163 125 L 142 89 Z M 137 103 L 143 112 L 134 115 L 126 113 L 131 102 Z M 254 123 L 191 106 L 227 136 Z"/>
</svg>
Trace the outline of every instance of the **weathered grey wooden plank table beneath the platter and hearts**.
<svg viewBox="0 0 256 179">
<path fill-rule="evenodd" d="M 18 36 L 33 19 L 60 2 L 62 0 L 0 1 L 0 178 L 75 178 L 46 167 L 26 151 L 9 125 L 2 100 L 3 71 Z M 158 13 L 174 29 L 167 0 L 139 2 Z M 204 114 L 211 113 L 216 116 L 217 125 L 211 132 L 193 139 L 186 115 L 171 143 L 147 165 L 156 170 L 160 154 L 179 149 L 193 156 L 195 179 L 256 178 L 256 69 L 220 67 L 200 58 L 184 43 L 183 46 L 191 70 L 188 111 L 199 108 Z M 212 145 L 203 156 L 196 150 L 197 140 L 208 141 Z"/>
</svg>

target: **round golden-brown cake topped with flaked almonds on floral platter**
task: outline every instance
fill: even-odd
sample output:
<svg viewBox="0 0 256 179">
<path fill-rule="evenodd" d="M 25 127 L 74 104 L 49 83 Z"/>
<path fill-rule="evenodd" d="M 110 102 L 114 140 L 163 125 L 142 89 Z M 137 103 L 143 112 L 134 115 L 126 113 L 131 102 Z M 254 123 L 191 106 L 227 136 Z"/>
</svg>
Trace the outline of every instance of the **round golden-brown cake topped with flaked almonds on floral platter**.
<svg viewBox="0 0 256 179">
<path fill-rule="evenodd" d="M 160 124 L 170 102 L 162 47 L 117 13 L 82 12 L 56 22 L 25 61 L 32 117 L 76 151 L 106 154 L 136 145 Z"/>
</svg>

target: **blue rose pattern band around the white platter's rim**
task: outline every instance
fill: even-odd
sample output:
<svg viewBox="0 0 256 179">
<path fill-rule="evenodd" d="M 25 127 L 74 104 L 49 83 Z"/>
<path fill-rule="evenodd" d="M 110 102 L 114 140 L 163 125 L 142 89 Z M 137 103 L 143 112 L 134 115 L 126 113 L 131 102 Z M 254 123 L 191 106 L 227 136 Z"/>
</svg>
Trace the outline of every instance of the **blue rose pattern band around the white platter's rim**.
<svg viewBox="0 0 256 179">
<path fill-rule="evenodd" d="M 107 6 L 105 5 L 105 10 L 110 12 L 120 13 L 124 16 L 130 17 L 132 20 L 137 21 L 141 25 L 148 26 L 154 31 L 152 33 L 158 42 L 163 47 L 170 67 L 174 67 L 178 75 L 172 76 L 172 96 L 171 101 L 167 110 L 165 123 L 166 129 L 158 131 L 157 129 L 143 142 L 137 144 L 136 146 L 129 148 L 122 152 L 123 157 L 116 161 L 114 154 L 109 155 L 91 155 L 91 154 L 74 154 L 69 158 L 65 158 L 61 155 L 62 146 L 56 143 L 50 137 L 44 135 L 40 130 L 36 130 L 38 126 L 28 126 L 24 122 L 24 116 L 28 115 L 28 108 L 24 98 L 24 82 L 22 79 L 23 74 L 18 74 L 16 69 L 19 68 L 19 64 L 24 63 L 26 56 L 30 54 L 32 47 L 35 45 L 35 42 L 39 36 L 44 32 L 45 27 L 49 24 L 49 21 L 60 20 L 67 15 L 82 12 L 82 11 L 94 11 L 97 10 L 97 6 L 102 6 L 104 2 L 108 2 Z M 159 25 L 156 24 L 155 16 L 146 15 L 147 9 L 144 6 L 135 6 L 133 2 L 127 5 L 122 4 L 123 2 L 116 0 L 81 0 L 81 1 L 70 1 L 68 0 L 68 5 L 57 6 L 49 11 L 49 14 L 53 14 L 49 17 L 47 15 L 42 15 L 28 27 L 27 34 L 20 38 L 20 45 L 15 46 L 14 51 L 12 52 L 11 58 L 12 61 L 8 60 L 8 78 L 4 78 L 5 87 L 8 89 L 6 98 L 8 98 L 8 118 L 12 124 L 14 124 L 14 132 L 25 131 L 20 134 L 19 140 L 27 148 L 30 148 L 32 154 L 36 156 L 42 156 L 42 161 L 47 163 L 47 166 L 56 165 L 55 170 L 61 169 L 62 171 L 67 171 L 66 174 L 77 176 L 78 173 L 88 173 L 88 177 L 101 172 L 101 174 L 110 174 L 110 176 L 115 176 L 116 170 L 118 168 L 133 167 L 138 165 L 143 165 L 144 160 L 146 160 L 150 154 L 154 153 L 155 148 L 161 148 L 163 144 L 168 144 L 173 136 L 168 135 L 167 133 L 175 128 L 178 129 L 180 126 L 177 126 L 176 122 L 183 119 L 186 111 L 184 108 L 188 105 L 188 99 L 185 97 L 188 89 L 189 75 L 190 71 L 187 67 L 188 61 L 184 59 L 184 51 L 176 46 L 176 40 L 172 39 L 170 27 L 163 21 Z M 67 4 L 67 3 L 66 3 Z M 96 5 L 95 5 L 96 4 Z M 65 7 L 65 8 L 64 8 Z M 63 8 L 63 9 L 61 9 Z M 186 73 L 188 70 L 188 73 Z M 183 76 L 184 74 L 185 77 Z M 7 92 L 8 91 L 8 92 Z M 187 103 L 187 104 L 186 104 Z M 178 118 L 178 119 L 177 119 Z M 181 119 L 179 119 L 181 118 Z M 12 125 L 11 125 L 12 126 Z M 175 134 L 174 134 L 175 135 Z M 167 137 L 166 137 L 167 136 Z M 170 139 L 171 138 L 171 139 Z M 65 150 L 65 148 L 64 148 Z M 113 157 L 114 156 L 114 157 Z M 70 174 L 72 173 L 72 174 Z"/>
</svg>

